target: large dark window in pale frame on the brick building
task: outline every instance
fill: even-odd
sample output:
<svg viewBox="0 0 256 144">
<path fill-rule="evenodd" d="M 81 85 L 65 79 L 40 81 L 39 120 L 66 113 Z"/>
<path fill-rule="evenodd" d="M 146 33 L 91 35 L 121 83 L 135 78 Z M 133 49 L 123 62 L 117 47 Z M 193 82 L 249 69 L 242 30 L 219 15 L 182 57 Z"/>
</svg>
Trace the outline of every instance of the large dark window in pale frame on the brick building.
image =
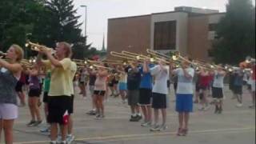
<svg viewBox="0 0 256 144">
<path fill-rule="evenodd" d="M 176 21 L 154 23 L 154 50 L 176 50 Z"/>
</svg>

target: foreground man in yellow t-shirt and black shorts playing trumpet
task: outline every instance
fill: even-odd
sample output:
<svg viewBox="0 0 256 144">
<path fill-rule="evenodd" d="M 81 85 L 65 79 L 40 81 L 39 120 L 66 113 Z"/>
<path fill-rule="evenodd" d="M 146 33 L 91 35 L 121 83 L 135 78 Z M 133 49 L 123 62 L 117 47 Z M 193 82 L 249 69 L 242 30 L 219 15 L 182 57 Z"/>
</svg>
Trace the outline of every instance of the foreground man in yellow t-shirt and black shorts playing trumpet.
<svg viewBox="0 0 256 144">
<path fill-rule="evenodd" d="M 48 62 L 41 61 L 41 54 L 46 54 Z M 68 115 L 73 90 L 74 69 L 70 60 L 71 47 L 67 42 L 58 42 L 55 57 L 51 50 L 41 50 L 38 54 L 38 63 L 51 66 L 50 90 L 48 97 L 48 122 L 50 122 L 50 140 L 56 144 L 58 124 L 61 128 L 62 143 L 66 144 Z M 73 70 L 72 70 L 73 69 Z"/>
</svg>

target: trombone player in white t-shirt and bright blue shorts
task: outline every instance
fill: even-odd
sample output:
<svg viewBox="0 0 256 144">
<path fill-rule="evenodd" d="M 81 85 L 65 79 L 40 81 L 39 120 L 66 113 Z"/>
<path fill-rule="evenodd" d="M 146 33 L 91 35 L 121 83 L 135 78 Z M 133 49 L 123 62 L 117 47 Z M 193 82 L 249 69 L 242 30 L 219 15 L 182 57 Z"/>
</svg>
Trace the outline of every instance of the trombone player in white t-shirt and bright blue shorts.
<svg viewBox="0 0 256 144">
<path fill-rule="evenodd" d="M 170 62 L 170 72 L 178 75 L 178 88 L 176 94 L 176 111 L 178 112 L 178 133 L 186 136 L 190 113 L 193 111 L 193 77 L 194 69 L 189 62 L 182 62 L 182 67 L 172 70 Z"/>
</svg>

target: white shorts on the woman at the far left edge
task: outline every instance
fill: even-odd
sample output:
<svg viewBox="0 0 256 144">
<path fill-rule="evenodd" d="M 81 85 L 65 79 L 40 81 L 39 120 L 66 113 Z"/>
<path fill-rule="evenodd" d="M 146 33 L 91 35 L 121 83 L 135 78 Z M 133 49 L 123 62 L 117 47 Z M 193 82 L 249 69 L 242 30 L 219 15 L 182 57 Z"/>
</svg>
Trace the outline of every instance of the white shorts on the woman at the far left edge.
<svg viewBox="0 0 256 144">
<path fill-rule="evenodd" d="M 10 103 L 0 103 L 0 119 L 10 120 L 18 118 L 18 106 Z"/>
</svg>

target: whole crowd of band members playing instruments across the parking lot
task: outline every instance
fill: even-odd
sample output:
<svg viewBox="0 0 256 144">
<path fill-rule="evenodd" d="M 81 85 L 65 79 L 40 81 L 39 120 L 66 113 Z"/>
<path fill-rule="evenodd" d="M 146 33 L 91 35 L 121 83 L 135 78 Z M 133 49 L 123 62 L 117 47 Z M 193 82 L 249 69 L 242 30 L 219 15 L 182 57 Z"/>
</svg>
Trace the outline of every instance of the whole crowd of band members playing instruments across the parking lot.
<svg viewBox="0 0 256 144">
<path fill-rule="evenodd" d="M 111 67 L 112 70 L 96 67 L 77 68 L 70 59 L 72 50 L 67 42 L 59 42 L 53 55 L 50 50 L 42 50 L 38 54 L 37 62 L 30 69 L 22 67 L 22 48 L 18 45 L 10 46 L 6 58 L 0 58 L 0 134 L 3 130 L 6 143 L 13 143 L 14 119 L 18 118 L 18 101 L 25 106 L 25 94 L 22 86 L 28 85 L 28 106 L 31 121 L 27 126 L 38 126 L 42 123 L 39 106 L 40 95 L 46 122 L 50 124 L 50 143 L 57 143 L 58 124 L 62 143 L 74 139 L 72 134 L 74 112 L 74 82 L 78 81 L 80 94 L 86 98 L 86 86 L 89 86 L 92 109 L 88 114 L 96 115 L 96 119 L 105 118 L 104 99 L 107 95 L 122 98 L 122 103 L 130 106 L 130 122 L 142 119 L 141 126 L 150 127 L 151 131 L 166 130 L 166 108 L 169 106 L 170 81 L 174 83 L 175 110 L 178 112 L 177 135 L 185 136 L 189 128 L 190 113 L 193 103 L 200 103 L 199 110 L 207 110 L 209 95 L 215 105 L 214 113 L 221 114 L 223 110 L 224 78 L 229 75 L 230 90 L 237 98 L 237 106 L 242 106 L 243 80 L 247 82 L 252 95 L 251 108 L 255 106 L 255 63 L 251 64 L 252 74 L 242 69 L 226 73 L 218 66 L 216 70 L 194 70 L 189 62 L 182 62 L 179 68 L 174 68 L 172 62 L 166 65 L 163 61 L 156 64 L 150 60 L 129 66 L 101 66 Z M 42 60 L 45 55 L 47 60 Z M 28 77 L 26 76 L 28 75 Z M 44 77 L 42 86 L 41 77 Z M 196 80 L 195 80 L 196 79 Z M 195 81 L 195 92 L 194 92 Z M 42 88 L 43 87 L 43 88 Z M 110 90 L 110 92 L 108 91 Z M 210 92 L 211 91 L 211 92 Z M 193 102 L 194 99 L 194 102 Z M 142 114 L 140 114 L 140 109 Z M 154 114 L 151 114 L 153 109 Z M 162 122 L 159 121 L 159 112 Z M 152 116 L 153 115 L 153 116 Z"/>
</svg>

